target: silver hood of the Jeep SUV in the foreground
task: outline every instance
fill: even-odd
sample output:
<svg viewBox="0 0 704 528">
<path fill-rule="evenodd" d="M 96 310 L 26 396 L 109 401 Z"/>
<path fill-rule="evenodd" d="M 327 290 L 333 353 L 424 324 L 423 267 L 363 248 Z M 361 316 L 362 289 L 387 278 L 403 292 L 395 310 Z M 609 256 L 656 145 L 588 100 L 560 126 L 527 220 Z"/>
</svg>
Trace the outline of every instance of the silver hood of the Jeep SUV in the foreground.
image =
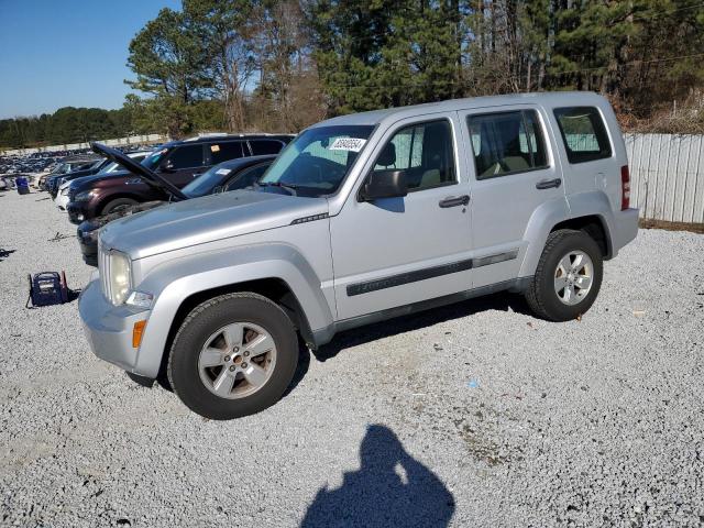
<svg viewBox="0 0 704 528">
<path fill-rule="evenodd" d="M 102 228 L 100 241 L 136 260 L 280 228 L 296 219 L 327 212 L 324 198 L 235 190 L 121 218 Z"/>
</svg>

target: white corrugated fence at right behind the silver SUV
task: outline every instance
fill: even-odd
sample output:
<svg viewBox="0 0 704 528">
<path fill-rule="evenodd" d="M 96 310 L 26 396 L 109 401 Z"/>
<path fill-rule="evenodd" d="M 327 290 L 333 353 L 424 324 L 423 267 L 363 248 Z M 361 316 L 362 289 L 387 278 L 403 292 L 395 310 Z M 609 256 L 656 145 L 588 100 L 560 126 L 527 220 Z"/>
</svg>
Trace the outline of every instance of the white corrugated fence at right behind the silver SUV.
<svg viewBox="0 0 704 528">
<path fill-rule="evenodd" d="M 704 135 L 626 134 L 640 218 L 704 223 Z"/>
</svg>

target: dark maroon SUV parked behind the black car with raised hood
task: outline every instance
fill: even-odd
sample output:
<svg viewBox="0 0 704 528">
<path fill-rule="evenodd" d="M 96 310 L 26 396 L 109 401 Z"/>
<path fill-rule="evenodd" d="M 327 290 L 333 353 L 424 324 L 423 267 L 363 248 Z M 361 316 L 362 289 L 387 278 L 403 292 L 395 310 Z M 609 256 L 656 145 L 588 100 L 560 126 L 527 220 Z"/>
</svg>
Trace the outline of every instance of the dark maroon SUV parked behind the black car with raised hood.
<svg viewBox="0 0 704 528">
<path fill-rule="evenodd" d="M 207 135 L 174 141 L 155 150 L 142 165 L 182 188 L 212 165 L 239 157 L 277 154 L 293 135 Z M 68 218 L 78 224 L 84 220 L 110 215 L 144 201 L 165 200 L 167 196 L 134 174 L 121 177 L 95 177 L 70 186 Z"/>
</svg>

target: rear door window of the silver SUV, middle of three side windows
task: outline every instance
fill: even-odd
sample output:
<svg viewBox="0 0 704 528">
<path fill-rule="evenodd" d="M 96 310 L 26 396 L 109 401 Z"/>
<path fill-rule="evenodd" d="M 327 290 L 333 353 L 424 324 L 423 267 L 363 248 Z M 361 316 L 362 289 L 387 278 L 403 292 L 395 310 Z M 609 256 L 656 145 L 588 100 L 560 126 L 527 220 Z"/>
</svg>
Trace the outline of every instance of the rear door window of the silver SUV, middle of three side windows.
<svg viewBox="0 0 704 528">
<path fill-rule="evenodd" d="M 476 178 L 486 179 L 546 167 L 548 156 L 532 110 L 468 118 Z"/>
</svg>

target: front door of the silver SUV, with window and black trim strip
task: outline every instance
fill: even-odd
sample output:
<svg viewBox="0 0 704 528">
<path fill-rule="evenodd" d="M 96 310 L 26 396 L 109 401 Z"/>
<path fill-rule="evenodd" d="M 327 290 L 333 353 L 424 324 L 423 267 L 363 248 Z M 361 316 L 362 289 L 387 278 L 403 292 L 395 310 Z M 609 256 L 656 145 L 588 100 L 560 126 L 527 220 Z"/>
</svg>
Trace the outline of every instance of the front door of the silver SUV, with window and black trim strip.
<svg viewBox="0 0 704 528">
<path fill-rule="evenodd" d="M 453 112 L 386 132 L 356 190 L 330 219 L 338 319 L 471 289 L 469 187 Z M 400 169 L 408 195 L 361 201 L 370 173 Z"/>
</svg>

